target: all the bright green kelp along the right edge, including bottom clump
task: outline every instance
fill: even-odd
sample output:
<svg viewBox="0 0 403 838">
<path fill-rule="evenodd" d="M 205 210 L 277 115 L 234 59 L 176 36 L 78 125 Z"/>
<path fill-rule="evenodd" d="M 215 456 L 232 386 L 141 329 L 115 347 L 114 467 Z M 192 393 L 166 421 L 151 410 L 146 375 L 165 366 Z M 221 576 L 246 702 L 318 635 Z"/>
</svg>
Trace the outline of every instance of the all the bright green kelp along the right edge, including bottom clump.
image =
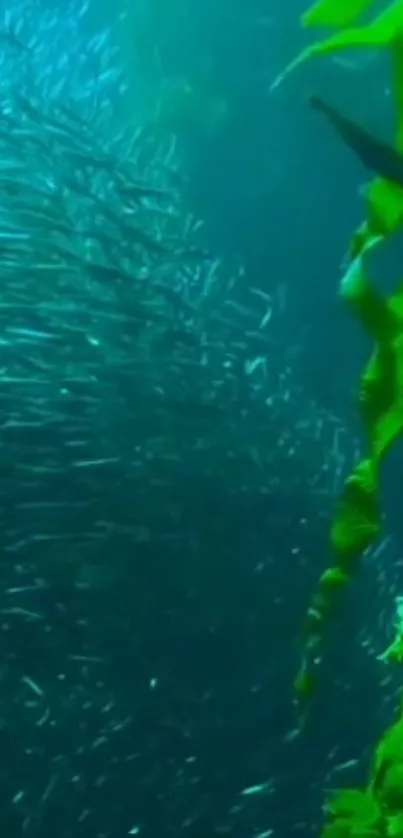
<svg viewBox="0 0 403 838">
<path fill-rule="evenodd" d="M 371 6 L 372 0 L 318 0 L 303 15 L 302 24 L 333 26 L 338 31 L 305 49 L 274 86 L 307 58 L 351 47 L 386 47 L 391 58 L 395 149 L 403 154 L 403 0 L 392 3 L 372 22 L 355 26 Z M 325 106 L 324 110 L 345 141 L 347 131 L 348 142 L 351 125 L 343 119 L 340 121 L 338 113 L 331 108 Z M 363 134 L 355 133 L 353 138 L 354 142 L 348 144 L 358 151 L 361 159 L 373 160 L 373 154 L 367 154 L 368 145 L 365 154 L 360 154 Z M 368 261 L 374 248 L 403 229 L 403 189 L 378 177 L 368 186 L 365 201 L 366 219 L 352 236 L 349 263 L 339 294 L 374 343 L 359 386 L 366 451 L 347 477 L 336 505 L 330 528 L 333 561 L 319 579 L 305 620 L 301 665 L 294 682 L 298 699 L 310 697 L 315 690 L 329 619 L 354 577 L 363 553 L 380 535 L 382 465 L 395 441 L 403 435 L 403 281 L 397 283 L 389 297 L 384 297 L 368 275 Z M 395 637 L 379 660 L 403 663 L 401 597 L 397 598 Z M 322 838 L 403 838 L 402 712 L 376 746 L 364 788 L 332 792 L 324 816 Z"/>
</svg>

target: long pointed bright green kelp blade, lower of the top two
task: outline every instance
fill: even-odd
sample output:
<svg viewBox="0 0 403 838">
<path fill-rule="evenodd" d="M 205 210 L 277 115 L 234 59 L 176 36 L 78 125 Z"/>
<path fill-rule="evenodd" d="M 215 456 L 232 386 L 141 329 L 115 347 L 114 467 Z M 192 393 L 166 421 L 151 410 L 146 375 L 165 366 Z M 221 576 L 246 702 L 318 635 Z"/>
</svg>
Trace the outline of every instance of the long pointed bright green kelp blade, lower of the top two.
<svg viewBox="0 0 403 838">
<path fill-rule="evenodd" d="M 359 47 L 387 47 L 396 40 L 403 32 L 403 0 L 396 0 L 385 12 L 375 18 L 368 26 L 359 26 L 345 29 L 327 38 L 324 41 L 316 41 L 291 61 L 290 64 L 280 73 L 270 87 L 270 92 L 276 90 L 280 84 L 297 70 L 301 64 L 310 58 L 319 58 L 324 55 L 333 55 L 345 49 L 357 49 Z"/>
</svg>

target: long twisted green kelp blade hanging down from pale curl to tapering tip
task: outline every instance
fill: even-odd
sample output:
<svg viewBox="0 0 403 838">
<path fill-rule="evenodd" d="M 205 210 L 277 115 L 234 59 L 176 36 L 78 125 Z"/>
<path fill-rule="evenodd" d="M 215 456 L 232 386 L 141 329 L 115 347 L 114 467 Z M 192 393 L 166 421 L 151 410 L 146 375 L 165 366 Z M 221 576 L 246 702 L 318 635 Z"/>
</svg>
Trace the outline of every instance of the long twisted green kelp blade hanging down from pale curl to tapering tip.
<svg viewBox="0 0 403 838">
<path fill-rule="evenodd" d="M 380 469 L 403 435 L 403 287 L 384 299 L 370 283 L 359 255 L 343 277 L 340 295 L 375 341 L 359 388 L 368 453 L 347 477 L 336 505 L 330 530 L 334 561 L 322 573 L 308 607 L 297 698 L 307 697 L 301 685 L 309 681 L 309 668 L 316 676 L 321 641 L 340 594 L 353 579 L 362 554 L 381 533 Z"/>
</svg>

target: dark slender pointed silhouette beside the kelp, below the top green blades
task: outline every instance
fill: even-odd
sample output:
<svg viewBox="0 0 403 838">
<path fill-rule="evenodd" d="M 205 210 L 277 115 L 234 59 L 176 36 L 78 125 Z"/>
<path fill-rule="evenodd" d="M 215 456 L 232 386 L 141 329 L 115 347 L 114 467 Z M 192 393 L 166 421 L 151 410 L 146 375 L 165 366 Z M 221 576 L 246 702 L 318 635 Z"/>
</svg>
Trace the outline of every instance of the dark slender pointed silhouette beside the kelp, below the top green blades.
<svg viewBox="0 0 403 838">
<path fill-rule="evenodd" d="M 309 103 L 325 116 L 365 169 L 403 188 L 403 155 L 391 144 L 378 139 L 320 96 L 310 96 Z"/>
</svg>

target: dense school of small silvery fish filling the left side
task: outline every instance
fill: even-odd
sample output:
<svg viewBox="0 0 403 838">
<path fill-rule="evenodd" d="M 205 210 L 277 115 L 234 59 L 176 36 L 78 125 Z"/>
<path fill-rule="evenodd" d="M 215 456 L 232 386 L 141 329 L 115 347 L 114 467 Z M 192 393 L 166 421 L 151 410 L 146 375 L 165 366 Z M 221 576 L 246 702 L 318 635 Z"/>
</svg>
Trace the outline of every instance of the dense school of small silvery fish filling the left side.
<svg viewBox="0 0 403 838">
<path fill-rule="evenodd" d="M 277 556 L 292 558 L 294 584 L 310 554 L 302 539 L 311 520 L 326 520 L 340 461 L 358 446 L 344 420 L 306 397 L 285 283 L 217 253 L 190 200 L 180 138 L 134 113 L 134 94 L 130 118 L 123 112 L 116 27 L 89 35 L 86 8 L 16 0 L 11 25 L 22 21 L 29 50 L 0 44 L 0 827 L 27 838 L 53 834 L 59 809 L 63 835 L 127 833 L 124 790 L 134 771 L 141 800 L 154 800 L 156 765 L 164 817 L 163 784 L 173 784 L 169 831 L 183 832 L 200 731 L 194 739 L 189 725 L 185 759 L 172 767 L 168 755 L 165 768 L 154 733 L 151 750 L 148 731 L 137 736 L 143 704 L 146 716 L 162 714 L 163 738 L 175 722 L 170 652 L 167 666 L 164 648 L 151 649 L 151 671 L 148 632 L 161 621 L 169 646 L 181 613 L 198 620 L 207 597 L 214 645 L 222 574 L 243 556 L 271 619 Z M 244 586 L 232 588 L 244 609 Z M 186 657 L 188 641 L 193 653 L 192 632 L 181 632 Z M 127 701 L 129 681 L 115 674 L 138 654 Z M 209 718 L 215 689 L 194 693 Z M 94 761 L 91 742 L 105 760 Z M 242 771 L 232 791 L 258 833 L 259 793 L 274 797 L 277 783 L 255 786 L 265 772 Z M 158 831 L 140 808 L 141 830 Z M 207 827 L 230 833 L 234 822 L 226 830 L 222 810 Z"/>
</svg>

